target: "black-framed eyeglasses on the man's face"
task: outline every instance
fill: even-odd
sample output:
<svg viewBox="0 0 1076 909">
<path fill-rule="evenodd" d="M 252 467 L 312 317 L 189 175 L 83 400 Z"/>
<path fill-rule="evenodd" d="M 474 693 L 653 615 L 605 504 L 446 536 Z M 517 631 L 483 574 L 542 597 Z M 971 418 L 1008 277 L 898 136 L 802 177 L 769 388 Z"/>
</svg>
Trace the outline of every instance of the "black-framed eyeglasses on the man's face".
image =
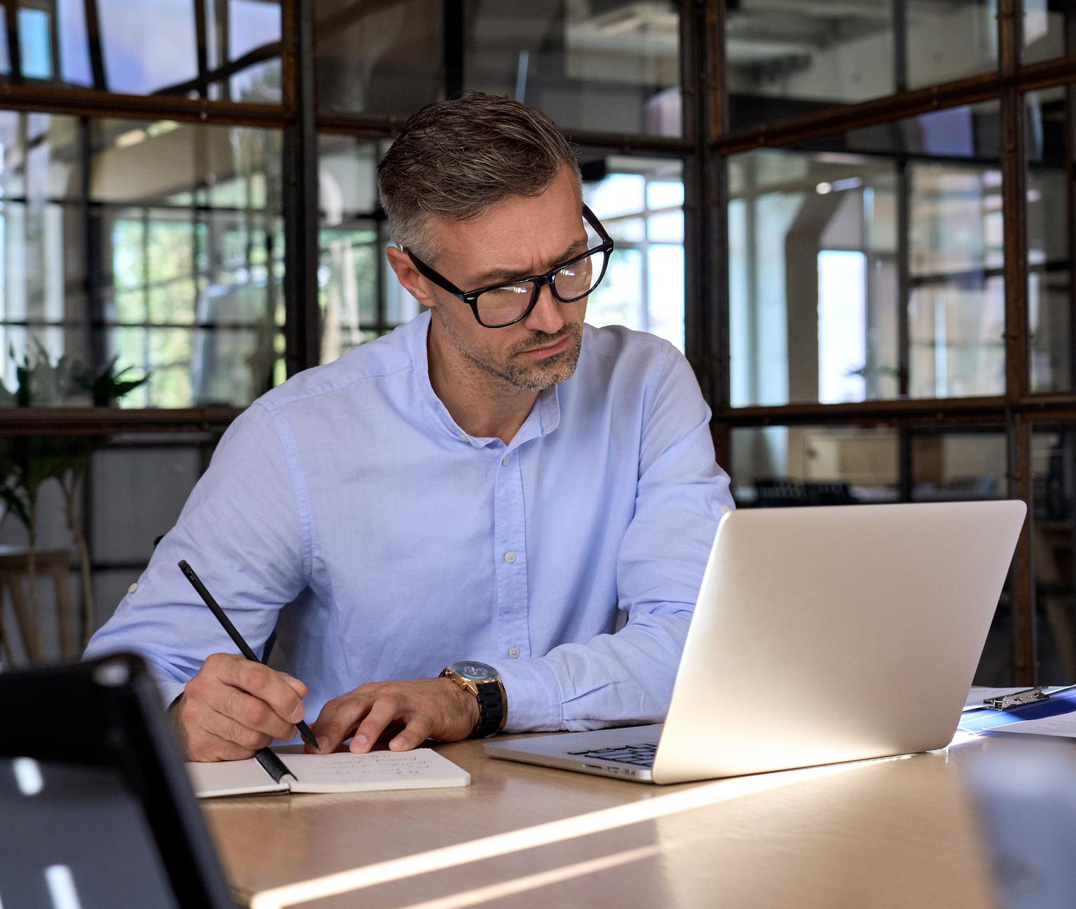
<svg viewBox="0 0 1076 909">
<path fill-rule="evenodd" d="M 491 284 L 477 290 L 461 290 L 410 250 L 405 248 L 404 252 L 411 257 L 419 274 L 467 303 L 479 325 L 484 325 L 486 328 L 504 328 L 530 314 L 530 310 L 538 302 L 538 294 L 547 284 L 553 296 L 562 303 L 574 303 L 592 293 L 601 283 L 609 266 L 609 254 L 613 247 L 612 238 L 586 205 L 583 205 L 583 217 L 601 238 L 597 246 L 551 268 L 544 274 L 521 278 L 507 284 Z"/>
</svg>

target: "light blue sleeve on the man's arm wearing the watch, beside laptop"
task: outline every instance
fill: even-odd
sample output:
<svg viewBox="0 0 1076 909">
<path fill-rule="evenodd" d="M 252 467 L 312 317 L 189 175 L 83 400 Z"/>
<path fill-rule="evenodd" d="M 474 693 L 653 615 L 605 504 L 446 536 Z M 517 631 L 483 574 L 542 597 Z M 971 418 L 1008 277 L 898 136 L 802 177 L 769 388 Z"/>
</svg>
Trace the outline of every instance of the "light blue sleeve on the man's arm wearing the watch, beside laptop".
<svg viewBox="0 0 1076 909">
<path fill-rule="evenodd" d="M 733 508 L 709 420 L 690 366 L 670 351 L 645 402 L 635 513 L 618 555 L 627 622 L 544 656 L 497 662 L 506 732 L 664 720 L 718 522 Z"/>
</svg>

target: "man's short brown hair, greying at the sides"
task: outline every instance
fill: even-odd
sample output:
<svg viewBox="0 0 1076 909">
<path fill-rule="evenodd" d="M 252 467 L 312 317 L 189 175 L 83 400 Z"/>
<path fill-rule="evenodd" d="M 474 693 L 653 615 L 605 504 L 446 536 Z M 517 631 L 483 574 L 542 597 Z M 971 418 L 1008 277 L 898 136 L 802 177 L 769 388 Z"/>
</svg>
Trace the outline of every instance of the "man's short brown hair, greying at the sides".
<svg viewBox="0 0 1076 909">
<path fill-rule="evenodd" d="M 510 98 L 468 91 L 408 119 L 378 165 L 378 187 L 393 241 L 429 261 L 439 252 L 430 216 L 467 221 L 511 196 L 538 196 L 563 167 L 582 197 L 579 162 L 553 120 Z"/>
</svg>

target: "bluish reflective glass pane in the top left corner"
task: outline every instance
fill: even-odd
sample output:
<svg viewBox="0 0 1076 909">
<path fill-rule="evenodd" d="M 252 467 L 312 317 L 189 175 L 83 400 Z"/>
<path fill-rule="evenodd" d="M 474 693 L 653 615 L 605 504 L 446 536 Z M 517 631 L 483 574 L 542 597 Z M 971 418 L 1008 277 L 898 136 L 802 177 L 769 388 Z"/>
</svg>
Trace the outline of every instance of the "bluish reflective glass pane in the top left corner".
<svg viewBox="0 0 1076 909">
<path fill-rule="evenodd" d="M 84 0 L 18 5 L 24 80 L 128 95 L 281 102 L 279 0 L 97 0 L 96 33 L 87 28 Z M 6 56 L 5 47 L 2 70 L 10 75 Z"/>
</svg>

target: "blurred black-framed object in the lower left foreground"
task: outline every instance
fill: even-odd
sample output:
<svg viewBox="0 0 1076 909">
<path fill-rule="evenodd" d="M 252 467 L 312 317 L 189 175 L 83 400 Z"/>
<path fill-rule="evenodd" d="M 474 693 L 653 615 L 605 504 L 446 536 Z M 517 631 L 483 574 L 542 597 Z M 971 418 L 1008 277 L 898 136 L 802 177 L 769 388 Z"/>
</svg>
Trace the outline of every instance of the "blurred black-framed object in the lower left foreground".
<svg viewBox="0 0 1076 909">
<path fill-rule="evenodd" d="M 0 906 L 235 909 L 140 657 L 0 672 Z"/>
</svg>

